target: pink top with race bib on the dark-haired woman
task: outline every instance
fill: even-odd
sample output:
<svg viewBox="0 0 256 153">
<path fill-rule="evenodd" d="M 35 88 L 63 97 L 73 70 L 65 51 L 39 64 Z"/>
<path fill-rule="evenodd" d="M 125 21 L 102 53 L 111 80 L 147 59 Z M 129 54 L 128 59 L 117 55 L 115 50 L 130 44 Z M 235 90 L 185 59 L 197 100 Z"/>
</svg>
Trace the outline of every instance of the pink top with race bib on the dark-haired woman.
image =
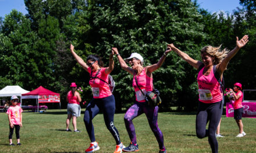
<svg viewBox="0 0 256 153">
<path fill-rule="evenodd" d="M 97 77 L 101 78 L 102 80 L 108 82 L 108 74 L 105 73 L 106 68 L 101 68 L 101 70 L 93 72 L 91 75 L 91 68 L 88 67 L 88 72 L 90 73 L 91 77 L 95 77 L 97 72 L 99 71 Z M 100 79 L 90 79 L 89 84 L 91 85 L 91 89 L 93 90 L 93 97 L 94 99 L 102 99 L 104 97 L 111 96 L 111 90 L 109 89 L 108 83 L 101 81 Z"/>
</svg>

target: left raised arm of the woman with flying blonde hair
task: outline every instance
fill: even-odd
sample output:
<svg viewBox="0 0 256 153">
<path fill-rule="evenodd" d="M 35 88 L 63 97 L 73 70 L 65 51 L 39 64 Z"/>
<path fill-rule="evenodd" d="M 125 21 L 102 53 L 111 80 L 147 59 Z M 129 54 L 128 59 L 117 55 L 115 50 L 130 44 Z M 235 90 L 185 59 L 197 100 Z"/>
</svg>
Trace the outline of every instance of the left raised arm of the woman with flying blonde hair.
<svg viewBox="0 0 256 153">
<path fill-rule="evenodd" d="M 182 52 L 181 50 L 177 49 L 173 43 L 168 45 L 169 48 L 171 48 L 173 51 L 175 51 L 180 57 L 182 57 L 183 60 L 187 61 L 190 65 L 192 65 L 194 68 L 198 69 L 200 65 L 202 64 L 201 61 L 192 59 L 188 54 Z"/>
</svg>

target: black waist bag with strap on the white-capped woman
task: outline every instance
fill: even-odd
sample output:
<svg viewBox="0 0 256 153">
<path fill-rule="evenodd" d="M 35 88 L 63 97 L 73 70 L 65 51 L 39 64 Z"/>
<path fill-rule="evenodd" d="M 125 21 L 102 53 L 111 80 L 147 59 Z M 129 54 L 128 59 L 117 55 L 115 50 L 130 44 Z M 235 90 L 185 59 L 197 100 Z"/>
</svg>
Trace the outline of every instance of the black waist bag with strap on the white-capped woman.
<svg viewBox="0 0 256 153">
<path fill-rule="evenodd" d="M 137 82 L 137 78 L 136 76 L 134 76 L 135 81 L 136 81 L 136 85 L 138 86 L 138 82 Z M 140 86 L 138 86 L 138 89 L 140 89 Z M 153 90 L 152 91 L 148 91 L 146 94 L 143 93 L 143 91 L 140 89 L 141 93 L 145 96 L 145 101 L 148 105 L 150 105 L 151 107 L 155 107 L 159 104 L 162 103 L 161 98 L 159 97 L 159 90 L 154 89 L 154 85 L 153 85 Z"/>
</svg>

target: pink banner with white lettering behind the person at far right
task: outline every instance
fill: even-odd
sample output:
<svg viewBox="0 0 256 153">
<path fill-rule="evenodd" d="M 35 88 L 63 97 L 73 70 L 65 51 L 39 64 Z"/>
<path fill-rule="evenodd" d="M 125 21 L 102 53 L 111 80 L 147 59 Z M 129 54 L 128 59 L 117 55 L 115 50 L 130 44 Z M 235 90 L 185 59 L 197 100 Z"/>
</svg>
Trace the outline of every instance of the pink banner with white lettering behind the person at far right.
<svg viewBox="0 0 256 153">
<path fill-rule="evenodd" d="M 256 103 L 255 102 L 242 102 L 244 107 L 243 118 L 256 118 Z M 226 116 L 234 117 L 233 103 L 226 103 Z"/>
</svg>

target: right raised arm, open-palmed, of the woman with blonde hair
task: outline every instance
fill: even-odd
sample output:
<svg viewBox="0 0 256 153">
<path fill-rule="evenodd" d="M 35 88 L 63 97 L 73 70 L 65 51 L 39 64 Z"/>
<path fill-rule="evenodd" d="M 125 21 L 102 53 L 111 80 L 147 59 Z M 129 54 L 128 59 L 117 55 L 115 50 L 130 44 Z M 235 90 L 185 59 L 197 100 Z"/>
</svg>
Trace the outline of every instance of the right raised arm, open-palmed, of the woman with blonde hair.
<svg viewBox="0 0 256 153">
<path fill-rule="evenodd" d="M 231 60 L 234 55 L 241 49 L 243 48 L 243 46 L 246 45 L 246 43 L 249 41 L 248 39 L 248 35 L 244 35 L 244 37 L 242 39 L 238 39 L 238 37 L 236 37 L 236 47 L 231 50 L 228 54 L 227 57 L 225 57 L 225 59 L 222 60 L 222 62 L 220 64 L 217 65 L 217 71 L 219 72 L 220 75 L 223 74 L 223 72 L 226 70 L 227 68 L 227 64 L 229 64 L 229 60 Z"/>
</svg>

